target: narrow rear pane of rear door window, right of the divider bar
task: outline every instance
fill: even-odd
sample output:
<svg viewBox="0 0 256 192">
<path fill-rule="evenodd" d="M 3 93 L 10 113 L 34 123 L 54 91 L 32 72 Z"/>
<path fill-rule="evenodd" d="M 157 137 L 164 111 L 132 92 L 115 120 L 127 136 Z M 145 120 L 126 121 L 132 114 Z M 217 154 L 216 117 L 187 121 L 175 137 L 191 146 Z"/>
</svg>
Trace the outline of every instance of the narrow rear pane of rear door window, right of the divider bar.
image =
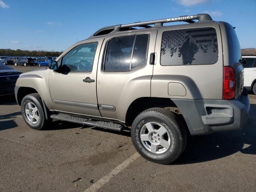
<svg viewBox="0 0 256 192">
<path fill-rule="evenodd" d="M 132 69 L 142 66 L 146 63 L 147 47 L 148 34 L 137 35 L 132 56 Z"/>
</svg>

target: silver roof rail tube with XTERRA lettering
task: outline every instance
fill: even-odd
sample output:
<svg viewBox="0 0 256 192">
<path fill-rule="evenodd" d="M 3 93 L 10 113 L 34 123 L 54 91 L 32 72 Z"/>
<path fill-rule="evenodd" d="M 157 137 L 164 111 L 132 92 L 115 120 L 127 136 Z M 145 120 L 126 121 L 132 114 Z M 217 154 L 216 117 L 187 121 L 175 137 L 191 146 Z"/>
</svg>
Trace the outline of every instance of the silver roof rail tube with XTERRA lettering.
<svg viewBox="0 0 256 192">
<path fill-rule="evenodd" d="M 152 21 L 144 21 L 144 22 L 136 22 L 136 23 L 130 23 L 130 24 L 122 24 L 121 28 L 130 28 L 130 27 L 139 27 L 139 26 L 145 26 L 145 25 L 152 25 L 156 23 L 168 23 L 168 22 L 177 22 L 177 21 L 184 21 L 188 23 L 194 23 L 194 19 L 197 19 L 199 22 L 206 22 L 206 21 L 212 21 L 212 18 L 209 14 L 197 14 L 197 15 L 191 15 L 191 16 L 180 16 L 180 17 L 173 17 L 173 18 L 167 18 L 167 19 L 159 19 L 159 20 L 152 20 Z"/>
</svg>

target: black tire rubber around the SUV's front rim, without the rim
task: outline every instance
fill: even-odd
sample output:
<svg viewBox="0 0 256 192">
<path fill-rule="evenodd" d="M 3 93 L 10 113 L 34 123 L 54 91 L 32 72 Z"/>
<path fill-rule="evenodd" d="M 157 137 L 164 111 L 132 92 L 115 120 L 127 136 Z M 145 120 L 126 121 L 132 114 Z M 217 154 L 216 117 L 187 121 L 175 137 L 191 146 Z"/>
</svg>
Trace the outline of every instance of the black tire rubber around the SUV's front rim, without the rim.
<svg viewBox="0 0 256 192">
<path fill-rule="evenodd" d="M 36 123 L 32 123 L 27 117 L 26 106 L 28 103 L 32 103 L 38 109 L 37 113 L 39 116 L 39 120 Z M 21 114 L 22 114 L 26 124 L 28 124 L 28 126 L 30 126 L 30 128 L 35 129 L 35 130 L 42 130 L 50 122 L 50 121 L 46 120 L 46 117 L 44 114 L 44 108 L 43 108 L 43 104 L 42 104 L 42 99 L 38 93 L 32 93 L 32 94 L 26 95 L 22 99 L 20 106 L 21 106 Z"/>
</svg>

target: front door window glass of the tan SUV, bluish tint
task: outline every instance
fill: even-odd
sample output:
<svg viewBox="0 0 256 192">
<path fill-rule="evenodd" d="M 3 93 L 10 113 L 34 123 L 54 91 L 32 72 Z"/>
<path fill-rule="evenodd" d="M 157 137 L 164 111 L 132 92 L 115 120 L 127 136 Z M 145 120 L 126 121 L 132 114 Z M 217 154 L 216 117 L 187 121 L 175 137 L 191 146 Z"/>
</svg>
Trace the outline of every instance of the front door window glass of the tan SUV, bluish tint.
<svg viewBox="0 0 256 192">
<path fill-rule="evenodd" d="M 62 59 L 62 71 L 92 71 L 98 43 L 87 43 L 73 48 Z"/>
</svg>

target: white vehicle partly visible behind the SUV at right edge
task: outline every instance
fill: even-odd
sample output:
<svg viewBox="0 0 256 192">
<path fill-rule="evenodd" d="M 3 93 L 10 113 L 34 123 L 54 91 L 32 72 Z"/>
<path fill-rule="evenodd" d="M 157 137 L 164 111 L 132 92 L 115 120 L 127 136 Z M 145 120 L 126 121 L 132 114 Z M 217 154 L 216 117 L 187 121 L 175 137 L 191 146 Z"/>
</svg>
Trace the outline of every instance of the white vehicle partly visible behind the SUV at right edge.
<svg viewBox="0 0 256 192">
<path fill-rule="evenodd" d="M 242 56 L 246 59 L 244 66 L 244 87 L 256 94 L 256 56 Z"/>
</svg>

